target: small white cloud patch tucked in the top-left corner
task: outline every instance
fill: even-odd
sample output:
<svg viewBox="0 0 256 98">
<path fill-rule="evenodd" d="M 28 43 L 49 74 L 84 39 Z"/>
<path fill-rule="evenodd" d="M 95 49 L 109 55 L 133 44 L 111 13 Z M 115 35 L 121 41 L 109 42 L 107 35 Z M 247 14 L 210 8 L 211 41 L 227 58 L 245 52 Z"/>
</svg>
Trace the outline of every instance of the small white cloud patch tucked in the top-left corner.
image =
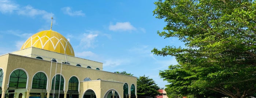
<svg viewBox="0 0 256 98">
<path fill-rule="evenodd" d="M 0 12 L 12 13 L 14 10 L 18 10 L 19 5 L 12 3 L 8 0 L 0 0 Z"/>
</svg>

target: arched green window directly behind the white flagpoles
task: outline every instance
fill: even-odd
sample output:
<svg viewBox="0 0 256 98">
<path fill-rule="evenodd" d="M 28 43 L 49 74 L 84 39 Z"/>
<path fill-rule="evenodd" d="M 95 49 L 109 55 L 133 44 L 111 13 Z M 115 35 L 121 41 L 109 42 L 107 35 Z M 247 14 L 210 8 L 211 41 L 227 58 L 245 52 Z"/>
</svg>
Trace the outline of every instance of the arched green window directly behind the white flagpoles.
<svg viewBox="0 0 256 98">
<path fill-rule="evenodd" d="M 56 78 L 54 76 L 53 79 L 52 79 L 52 90 L 53 89 L 63 90 L 63 87 L 64 87 L 64 78 L 62 76 L 60 77 L 60 75 L 56 75 Z"/>
</svg>

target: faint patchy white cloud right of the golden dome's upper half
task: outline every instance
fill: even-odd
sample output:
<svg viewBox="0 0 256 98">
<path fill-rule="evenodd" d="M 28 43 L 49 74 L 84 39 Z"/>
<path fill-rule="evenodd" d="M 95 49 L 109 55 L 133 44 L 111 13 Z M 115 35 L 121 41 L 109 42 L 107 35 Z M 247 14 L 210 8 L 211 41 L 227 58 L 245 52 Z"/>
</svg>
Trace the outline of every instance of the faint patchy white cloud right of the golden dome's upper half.
<svg viewBox="0 0 256 98">
<path fill-rule="evenodd" d="M 94 47 L 93 43 L 97 36 L 98 36 L 98 34 L 84 33 L 80 40 L 79 46 L 82 46 L 83 48 L 93 48 Z"/>
</svg>

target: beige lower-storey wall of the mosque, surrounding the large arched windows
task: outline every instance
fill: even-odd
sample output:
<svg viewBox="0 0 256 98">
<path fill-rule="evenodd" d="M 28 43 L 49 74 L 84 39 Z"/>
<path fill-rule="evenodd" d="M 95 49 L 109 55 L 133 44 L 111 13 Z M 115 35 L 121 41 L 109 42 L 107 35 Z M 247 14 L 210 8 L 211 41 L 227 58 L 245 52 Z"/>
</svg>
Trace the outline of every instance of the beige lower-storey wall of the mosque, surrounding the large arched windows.
<svg viewBox="0 0 256 98">
<path fill-rule="evenodd" d="M 137 78 L 134 76 L 77 67 L 74 65 L 67 65 L 67 64 L 61 64 L 61 63 L 57 63 L 57 67 L 56 67 L 56 63 L 53 62 L 51 65 L 51 61 L 35 59 L 32 57 L 26 57 L 26 56 L 19 56 L 15 54 L 5 54 L 3 56 L 0 56 L 0 68 L 2 68 L 4 72 L 3 86 L 8 84 L 9 77 L 12 71 L 16 69 L 22 69 L 23 71 L 25 71 L 27 73 L 27 79 L 28 79 L 27 88 L 26 88 L 27 90 L 31 89 L 33 76 L 37 72 L 44 72 L 45 75 L 47 75 L 48 85 L 50 85 L 47 87 L 51 88 L 51 81 L 53 79 L 53 76 L 55 75 L 55 70 L 57 74 L 61 73 L 64 78 L 64 81 L 65 81 L 64 91 L 67 91 L 68 89 L 68 80 L 72 76 L 76 76 L 80 81 L 80 89 L 82 94 L 84 93 L 84 91 L 90 88 L 90 89 L 93 89 L 93 91 L 95 91 L 95 93 L 97 94 L 101 92 L 100 93 L 101 97 L 99 98 L 103 98 L 106 91 L 110 89 L 117 90 L 120 96 L 122 96 L 124 83 L 128 84 L 129 92 L 130 92 L 131 84 L 134 84 L 135 86 L 137 86 L 136 84 Z M 89 77 L 91 80 L 95 80 L 95 81 L 82 82 L 86 77 Z M 97 79 L 101 79 L 101 80 L 97 80 Z M 47 90 L 48 89 L 49 88 L 47 88 Z"/>
</svg>

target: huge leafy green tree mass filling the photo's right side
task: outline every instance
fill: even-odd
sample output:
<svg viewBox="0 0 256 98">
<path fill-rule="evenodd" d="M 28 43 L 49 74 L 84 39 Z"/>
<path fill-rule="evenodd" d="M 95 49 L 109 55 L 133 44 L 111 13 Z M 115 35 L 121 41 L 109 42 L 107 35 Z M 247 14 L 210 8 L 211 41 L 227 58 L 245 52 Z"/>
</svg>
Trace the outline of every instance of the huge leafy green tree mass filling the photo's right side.
<svg viewBox="0 0 256 98">
<path fill-rule="evenodd" d="M 159 0 L 153 11 L 167 23 L 158 34 L 177 37 L 185 47 L 154 48 L 178 65 L 160 71 L 167 94 L 221 93 L 246 98 L 256 92 L 255 0 Z M 214 91 L 214 92 L 212 92 Z"/>
</svg>

